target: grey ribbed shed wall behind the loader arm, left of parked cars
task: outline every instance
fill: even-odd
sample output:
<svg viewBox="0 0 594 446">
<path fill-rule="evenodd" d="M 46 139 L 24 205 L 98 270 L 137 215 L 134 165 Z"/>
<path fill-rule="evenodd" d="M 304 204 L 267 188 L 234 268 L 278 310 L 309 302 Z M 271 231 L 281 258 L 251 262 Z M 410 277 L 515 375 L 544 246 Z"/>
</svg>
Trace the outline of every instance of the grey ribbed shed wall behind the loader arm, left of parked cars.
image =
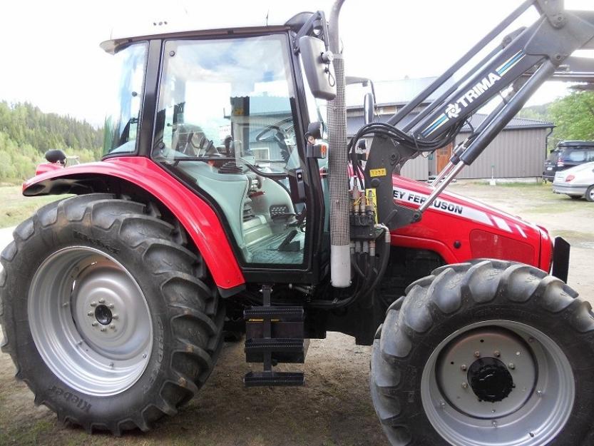
<svg viewBox="0 0 594 446">
<path fill-rule="evenodd" d="M 491 178 L 491 166 L 494 166 L 496 178 L 541 176 L 548 132 L 548 128 L 502 131 L 457 178 Z M 468 133 L 460 133 L 456 143 L 464 141 L 467 136 Z M 431 163 L 434 170 L 435 161 Z"/>
</svg>

